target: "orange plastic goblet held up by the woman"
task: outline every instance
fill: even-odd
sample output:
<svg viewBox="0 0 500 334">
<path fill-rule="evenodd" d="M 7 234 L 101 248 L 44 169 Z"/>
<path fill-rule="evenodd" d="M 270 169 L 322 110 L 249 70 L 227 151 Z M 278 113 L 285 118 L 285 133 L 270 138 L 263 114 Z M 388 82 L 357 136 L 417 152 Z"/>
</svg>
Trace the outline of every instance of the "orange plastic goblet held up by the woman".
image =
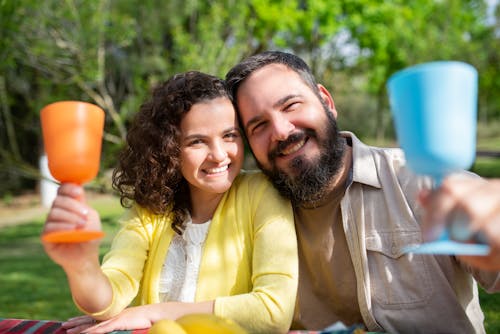
<svg viewBox="0 0 500 334">
<path fill-rule="evenodd" d="M 40 111 L 49 170 L 60 181 L 84 184 L 96 177 L 101 157 L 104 110 L 81 101 L 61 101 Z M 73 230 L 45 234 L 47 242 L 84 242 L 101 231 Z"/>
</svg>

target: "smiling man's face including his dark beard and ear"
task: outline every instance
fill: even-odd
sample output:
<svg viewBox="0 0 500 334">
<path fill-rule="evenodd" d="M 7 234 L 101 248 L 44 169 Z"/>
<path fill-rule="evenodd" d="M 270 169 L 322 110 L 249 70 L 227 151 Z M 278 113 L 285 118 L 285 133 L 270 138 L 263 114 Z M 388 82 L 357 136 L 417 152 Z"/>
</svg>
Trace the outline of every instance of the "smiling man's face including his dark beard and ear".
<svg viewBox="0 0 500 334">
<path fill-rule="evenodd" d="M 322 86 L 320 96 L 281 64 L 255 71 L 237 93 L 259 167 L 296 204 L 319 200 L 341 166 L 335 107 Z"/>
</svg>

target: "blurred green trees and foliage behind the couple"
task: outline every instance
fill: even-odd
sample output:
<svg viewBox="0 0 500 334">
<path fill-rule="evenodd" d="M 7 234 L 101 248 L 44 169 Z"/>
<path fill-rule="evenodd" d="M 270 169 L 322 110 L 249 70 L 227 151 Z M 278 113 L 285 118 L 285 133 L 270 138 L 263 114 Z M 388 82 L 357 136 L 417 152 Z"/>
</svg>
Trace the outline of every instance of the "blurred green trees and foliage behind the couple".
<svg viewBox="0 0 500 334">
<path fill-rule="evenodd" d="M 479 149 L 500 150 L 499 16 L 498 0 L 0 0 L 0 199 L 39 187 L 44 105 L 82 100 L 106 111 L 95 181 L 106 190 L 153 85 L 191 69 L 224 76 L 268 49 L 303 57 L 333 93 L 341 129 L 377 145 L 397 144 L 392 73 L 468 62 L 480 74 Z"/>
</svg>

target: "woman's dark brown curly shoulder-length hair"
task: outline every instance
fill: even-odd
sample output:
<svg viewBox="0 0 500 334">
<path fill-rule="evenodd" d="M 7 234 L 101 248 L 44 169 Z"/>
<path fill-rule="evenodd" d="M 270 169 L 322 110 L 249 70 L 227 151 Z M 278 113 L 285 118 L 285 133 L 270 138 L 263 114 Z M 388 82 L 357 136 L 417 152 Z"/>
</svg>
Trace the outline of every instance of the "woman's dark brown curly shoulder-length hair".
<svg viewBox="0 0 500 334">
<path fill-rule="evenodd" d="M 172 228 L 182 233 L 191 205 L 181 174 L 180 124 L 194 104 L 219 97 L 230 99 L 224 81 L 197 71 L 176 74 L 153 89 L 113 171 L 113 188 L 124 207 L 136 202 L 155 214 L 172 211 Z"/>
</svg>

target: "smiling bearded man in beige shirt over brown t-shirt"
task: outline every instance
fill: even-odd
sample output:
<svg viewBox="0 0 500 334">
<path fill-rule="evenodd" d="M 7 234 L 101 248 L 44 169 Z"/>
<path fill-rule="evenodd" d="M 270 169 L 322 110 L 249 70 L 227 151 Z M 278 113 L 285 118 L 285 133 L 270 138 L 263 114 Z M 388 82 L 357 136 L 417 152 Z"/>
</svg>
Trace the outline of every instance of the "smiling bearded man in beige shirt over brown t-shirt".
<svg viewBox="0 0 500 334">
<path fill-rule="evenodd" d="M 403 251 L 422 242 L 416 198 L 431 183 L 406 168 L 401 150 L 339 132 L 332 96 L 292 54 L 252 56 L 226 80 L 259 167 L 294 206 L 293 328 L 342 321 L 390 333 L 485 332 L 472 275 L 498 291 L 498 273 Z"/>
</svg>

